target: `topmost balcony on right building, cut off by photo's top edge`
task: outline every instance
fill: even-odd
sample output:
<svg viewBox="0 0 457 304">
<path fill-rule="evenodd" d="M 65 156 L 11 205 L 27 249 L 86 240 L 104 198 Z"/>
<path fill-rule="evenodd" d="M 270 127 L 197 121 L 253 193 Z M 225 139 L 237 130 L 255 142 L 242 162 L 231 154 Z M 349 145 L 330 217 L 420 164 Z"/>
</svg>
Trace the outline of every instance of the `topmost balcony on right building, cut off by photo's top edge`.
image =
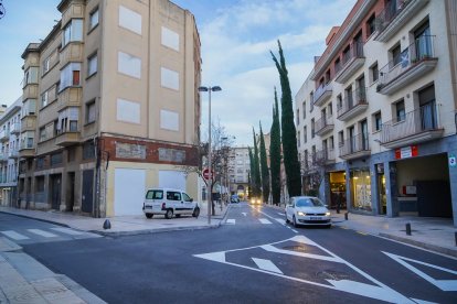
<svg viewBox="0 0 457 304">
<path fill-rule="evenodd" d="M 396 0 L 376 17 L 378 35 L 374 40 L 387 42 L 395 35 L 429 0 Z"/>
</svg>

